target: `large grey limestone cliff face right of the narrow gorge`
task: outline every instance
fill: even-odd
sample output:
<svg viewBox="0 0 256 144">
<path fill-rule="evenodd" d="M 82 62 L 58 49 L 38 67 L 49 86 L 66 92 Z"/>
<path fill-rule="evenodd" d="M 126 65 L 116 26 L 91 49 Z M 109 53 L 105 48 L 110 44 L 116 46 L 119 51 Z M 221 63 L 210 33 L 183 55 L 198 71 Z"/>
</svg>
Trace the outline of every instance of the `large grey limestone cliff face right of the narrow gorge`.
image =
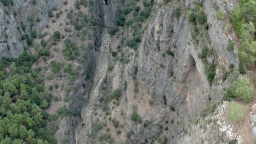
<svg viewBox="0 0 256 144">
<path fill-rule="evenodd" d="M 234 74 L 226 80 L 221 78 L 225 73 L 223 69 L 228 71 L 230 64 L 238 66 L 236 52 L 227 51 L 229 35 L 224 31 L 223 21 L 215 18 L 217 10 L 214 5 L 218 5 L 225 13 L 228 11 L 219 0 L 205 0 L 203 4 L 210 27 L 206 31 L 207 37 L 200 35 L 202 41 L 195 43 L 193 29 L 185 11 L 180 18 L 174 16 L 175 7 L 195 6 L 187 0 L 160 8 L 149 22 L 139 48 L 137 78 L 147 85 L 152 97 L 166 101 L 168 106 L 175 108 L 178 115 L 170 116 L 170 119 L 179 121 L 179 125 L 171 125 L 169 128 L 172 129 L 169 136 L 175 137 L 171 140 L 174 143 L 177 142 L 175 139 L 178 133 L 190 125 L 189 119 L 198 117 L 203 109 L 213 106 L 214 101 L 221 101 L 224 88 L 237 77 Z M 227 5 L 231 5 L 230 2 Z M 205 46 L 216 52 L 216 56 L 208 58 L 208 64 L 199 58 Z M 173 52 L 174 56 L 166 54 L 168 51 Z M 211 85 L 205 71 L 213 63 L 217 64 L 216 81 Z"/>
</svg>

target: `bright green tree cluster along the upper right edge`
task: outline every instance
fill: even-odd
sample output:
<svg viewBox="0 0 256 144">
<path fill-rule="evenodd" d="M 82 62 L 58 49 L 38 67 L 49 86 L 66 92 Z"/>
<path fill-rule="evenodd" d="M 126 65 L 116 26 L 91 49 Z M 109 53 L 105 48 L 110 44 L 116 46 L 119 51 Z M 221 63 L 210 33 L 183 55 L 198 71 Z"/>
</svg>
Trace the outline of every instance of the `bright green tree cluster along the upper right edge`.
<svg viewBox="0 0 256 144">
<path fill-rule="evenodd" d="M 231 13 L 232 24 L 240 37 L 241 46 L 238 49 L 240 63 L 243 66 L 253 66 L 256 61 L 256 0 L 240 0 Z"/>
</svg>

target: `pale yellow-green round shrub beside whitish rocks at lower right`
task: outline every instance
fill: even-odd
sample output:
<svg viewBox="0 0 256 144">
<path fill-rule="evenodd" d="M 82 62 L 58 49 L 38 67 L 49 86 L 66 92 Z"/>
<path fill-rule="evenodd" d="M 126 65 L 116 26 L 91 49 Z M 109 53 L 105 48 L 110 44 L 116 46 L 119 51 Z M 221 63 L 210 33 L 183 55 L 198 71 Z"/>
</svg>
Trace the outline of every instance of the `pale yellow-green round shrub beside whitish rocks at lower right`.
<svg viewBox="0 0 256 144">
<path fill-rule="evenodd" d="M 228 106 L 228 121 L 230 123 L 235 123 L 237 121 L 243 120 L 246 116 L 245 109 L 240 106 L 237 102 L 230 102 Z"/>
</svg>

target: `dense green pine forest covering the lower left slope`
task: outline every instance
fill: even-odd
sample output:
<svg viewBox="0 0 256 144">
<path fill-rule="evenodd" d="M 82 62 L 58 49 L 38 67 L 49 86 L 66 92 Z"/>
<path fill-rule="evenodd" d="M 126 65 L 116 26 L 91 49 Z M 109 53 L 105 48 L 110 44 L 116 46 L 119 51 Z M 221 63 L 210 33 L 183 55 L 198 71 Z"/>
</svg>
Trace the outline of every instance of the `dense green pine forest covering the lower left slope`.
<svg viewBox="0 0 256 144">
<path fill-rule="evenodd" d="M 0 140 L 3 144 L 56 144 L 56 116 L 45 109 L 52 95 L 45 88 L 40 67 L 31 69 L 37 56 L 25 51 L 19 59 L 3 59 L 0 63 Z M 55 118 L 54 118 L 55 117 Z"/>
</svg>

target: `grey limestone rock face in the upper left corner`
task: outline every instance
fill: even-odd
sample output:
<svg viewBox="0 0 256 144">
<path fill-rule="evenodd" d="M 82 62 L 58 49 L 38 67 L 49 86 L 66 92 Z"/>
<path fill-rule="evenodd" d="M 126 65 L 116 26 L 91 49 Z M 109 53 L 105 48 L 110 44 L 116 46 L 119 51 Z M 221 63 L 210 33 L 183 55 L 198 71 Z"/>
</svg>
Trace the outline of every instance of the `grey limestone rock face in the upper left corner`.
<svg viewBox="0 0 256 144">
<path fill-rule="evenodd" d="M 38 32 L 48 24 L 48 11 L 59 6 L 61 0 L 13 0 L 13 5 L 7 8 L 0 3 L 0 59 L 3 57 L 17 58 L 27 47 L 26 40 L 21 40 L 21 23 L 31 32 L 32 17 L 34 29 Z M 8 11 L 8 14 L 6 13 Z M 36 21 L 40 18 L 40 21 Z"/>
</svg>

